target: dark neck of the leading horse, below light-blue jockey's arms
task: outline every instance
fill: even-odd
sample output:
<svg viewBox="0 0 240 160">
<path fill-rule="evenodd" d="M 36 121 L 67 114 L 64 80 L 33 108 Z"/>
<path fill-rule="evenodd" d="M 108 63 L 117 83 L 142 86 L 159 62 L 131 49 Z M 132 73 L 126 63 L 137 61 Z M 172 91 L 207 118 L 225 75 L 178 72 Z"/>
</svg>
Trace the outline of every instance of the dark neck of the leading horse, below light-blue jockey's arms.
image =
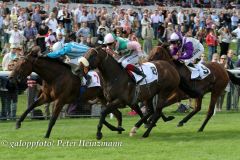
<svg viewBox="0 0 240 160">
<path fill-rule="evenodd" d="M 60 65 L 55 65 L 44 59 L 37 59 L 33 63 L 33 72 L 37 73 L 43 80 L 51 83 L 57 76 L 62 75 L 64 70 Z M 61 73 L 61 74 L 60 74 Z"/>
</svg>

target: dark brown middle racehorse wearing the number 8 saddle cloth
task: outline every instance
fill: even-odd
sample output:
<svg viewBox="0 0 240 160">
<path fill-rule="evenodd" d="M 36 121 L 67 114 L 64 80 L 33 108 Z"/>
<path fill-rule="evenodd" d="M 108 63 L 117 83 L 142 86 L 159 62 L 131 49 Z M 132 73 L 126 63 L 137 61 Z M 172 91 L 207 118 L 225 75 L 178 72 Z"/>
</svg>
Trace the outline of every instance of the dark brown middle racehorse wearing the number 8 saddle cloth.
<svg viewBox="0 0 240 160">
<path fill-rule="evenodd" d="M 174 92 L 179 85 L 179 75 L 177 71 L 169 63 L 164 61 L 152 62 L 156 66 L 158 80 L 145 85 L 136 85 L 127 71 L 101 46 L 91 48 L 86 54 L 85 58 L 89 61 L 90 69 L 98 68 L 103 76 L 105 82 L 106 98 L 108 101 L 107 107 L 102 111 L 99 124 L 97 127 L 97 139 L 102 138 L 103 122 L 107 114 L 123 105 L 133 105 L 138 102 L 147 102 L 148 107 L 152 106 L 152 99 L 158 95 L 157 107 L 152 116 L 152 121 L 149 128 L 144 133 L 143 137 L 148 137 L 155 123 L 160 117 L 166 120 L 162 113 L 165 106 L 166 99 Z M 83 75 L 83 69 L 81 68 Z M 156 74 L 154 73 L 154 74 Z M 149 112 L 143 117 L 135 126 L 142 124 L 142 121 L 152 115 Z"/>
</svg>

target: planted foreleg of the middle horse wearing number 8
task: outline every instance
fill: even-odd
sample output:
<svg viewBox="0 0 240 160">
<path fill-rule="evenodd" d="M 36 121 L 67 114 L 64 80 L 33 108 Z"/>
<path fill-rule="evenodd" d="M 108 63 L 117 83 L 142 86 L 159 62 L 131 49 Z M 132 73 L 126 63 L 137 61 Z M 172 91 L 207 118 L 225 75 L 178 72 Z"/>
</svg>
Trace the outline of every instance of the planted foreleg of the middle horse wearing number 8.
<svg viewBox="0 0 240 160">
<path fill-rule="evenodd" d="M 103 124 L 105 123 L 106 124 L 106 116 L 113 112 L 115 109 L 117 109 L 120 105 L 120 101 L 119 99 L 115 99 L 114 101 L 112 101 L 111 103 L 107 104 L 106 106 L 106 109 L 104 109 L 102 112 L 101 112 L 101 116 L 100 116 L 100 120 L 99 120 L 99 123 L 98 123 L 98 126 L 97 126 L 97 135 L 96 135 L 96 138 L 98 140 L 102 139 L 102 127 L 103 127 Z"/>
</svg>

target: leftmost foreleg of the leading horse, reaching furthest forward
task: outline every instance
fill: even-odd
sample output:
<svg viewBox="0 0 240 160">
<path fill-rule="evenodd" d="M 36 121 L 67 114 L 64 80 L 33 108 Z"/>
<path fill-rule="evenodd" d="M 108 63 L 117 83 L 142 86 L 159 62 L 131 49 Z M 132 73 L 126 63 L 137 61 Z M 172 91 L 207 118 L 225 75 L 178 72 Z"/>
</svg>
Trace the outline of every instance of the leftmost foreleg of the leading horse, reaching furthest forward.
<svg viewBox="0 0 240 160">
<path fill-rule="evenodd" d="M 30 113 L 34 108 L 46 103 L 45 97 L 41 94 L 38 99 L 30 105 L 30 107 L 21 115 L 19 120 L 16 122 L 16 129 L 21 127 L 21 123 L 24 121 L 28 113 Z"/>
</svg>

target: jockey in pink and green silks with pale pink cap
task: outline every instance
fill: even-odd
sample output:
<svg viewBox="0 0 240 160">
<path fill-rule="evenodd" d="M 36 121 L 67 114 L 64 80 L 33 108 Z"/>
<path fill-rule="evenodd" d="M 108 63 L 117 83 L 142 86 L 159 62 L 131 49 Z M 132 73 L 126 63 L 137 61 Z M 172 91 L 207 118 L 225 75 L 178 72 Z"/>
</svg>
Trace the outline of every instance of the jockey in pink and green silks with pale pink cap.
<svg viewBox="0 0 240 160">
<path fill-rule="evenodd" d="M 139 56 L 142 54 L 141 45 L 137 41 L 129 41 L 127 39 L 117 37 L 112 33 L 108 33 L 104 37 L 104 44 L 107 45 L 109 49 L 117 52 L 119 55 L 123 55 L 118 62 L 127 69 L 133 79 L 135 78 L 132 72 L 142 76 L 142 79 L 139 82 L 146 77 L 146 75 L 135 66 L 138 64 Z"/>
</svg>

